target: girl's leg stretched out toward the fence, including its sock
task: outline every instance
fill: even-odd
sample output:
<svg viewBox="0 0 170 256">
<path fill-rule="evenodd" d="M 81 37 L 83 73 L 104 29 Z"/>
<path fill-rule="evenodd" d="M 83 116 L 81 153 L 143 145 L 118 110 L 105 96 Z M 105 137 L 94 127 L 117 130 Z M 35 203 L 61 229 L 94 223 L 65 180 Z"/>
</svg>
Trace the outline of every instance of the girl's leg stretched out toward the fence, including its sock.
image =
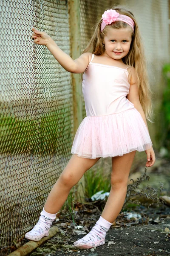
<svg viewBox="0 0 170 256">
<path fill-rule="evenodd" d="M 48 236 L 48 231 L 56 218 L 56 213 L 66 201 L 70 189 L 99 159 L 100 157 L 96 159 L 78 157 L 77 154 L 71 156 L 67 166 L 48 195 L 44 209 L 40 213 L 39 221 L 31 231 L 25 234 L 27 239 L 40 241 L 42 237 Z"/>
</svg>

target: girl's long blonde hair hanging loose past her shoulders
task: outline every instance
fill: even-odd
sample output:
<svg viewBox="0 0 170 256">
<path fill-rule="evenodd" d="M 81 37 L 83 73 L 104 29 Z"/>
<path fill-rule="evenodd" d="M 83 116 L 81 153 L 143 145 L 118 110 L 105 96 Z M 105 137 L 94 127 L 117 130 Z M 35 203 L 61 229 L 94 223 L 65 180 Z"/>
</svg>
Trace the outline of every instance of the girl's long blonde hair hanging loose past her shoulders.
<svg viewBox="0 0 170 256">
<path fill-rule="evenodd" d="M 153 108 L 151 101 L 151 89 L 150 84 L 147 77 L 147 67 L 146 67 L 146 59 L 144 56 L 144 47 L 142 44 L 142 39 L 139 33 L 139 28 L 136 23 L 135 17 L 133 14 L 125 9 L 123 6 L 112 7 L 111 9 L 116 10 L 119 14 L 127 15 L 133 19 L 135 26 L 134 32 L 132 28 L 123 21 L 116 21 L 111 23 L 110 25 L 106 25 L 105 29 L 101 32 L 101 23 L 102 19 L 95 25 L 94 34 L 91 40 L 88 43 L 88 46 L 85 48 L 84 52 L 91 52 L 95 55 L 102 55 L 105 52 L 105 47 L 103 45 L 103 38 L 108 28 L 120 29 L 120 28 L 130 28 L 132 31 L 132 42 L 130 45 L 130 50 L 128 54 L 122 58 L 122 61 L 130 66 L 135 67 L 138 92 L 139 92 L 139 100 L 142 105 L 143 111 L 145 113 L 146 119 L 152 122 L 150 119 L 153 117 Z"/>
</svg>

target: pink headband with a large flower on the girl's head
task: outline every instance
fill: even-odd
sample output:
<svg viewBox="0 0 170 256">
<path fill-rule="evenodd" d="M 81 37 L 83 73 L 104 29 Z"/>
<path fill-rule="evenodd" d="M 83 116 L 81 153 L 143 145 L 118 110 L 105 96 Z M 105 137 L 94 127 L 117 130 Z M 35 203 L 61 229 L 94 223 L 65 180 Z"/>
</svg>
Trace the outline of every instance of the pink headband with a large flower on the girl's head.
<svg viewBox="0 0 170 256">
<path fill-rule="evenodd" d="M 112 22 L 117 20 L 124 21 L 125 23 L 129 24 L 134 31 L 135 23 L 133 22 L 132 18 L 130 18 L 127 15 L 119 14 L 115 10 L 111 9 L 111 10 L 105 11 L 104 14 L 102 15 L 102 19 L 103 20 L 101 23 L 101 32 L 103 31 L 106 25 L 111 24 Z"/>
</svg>

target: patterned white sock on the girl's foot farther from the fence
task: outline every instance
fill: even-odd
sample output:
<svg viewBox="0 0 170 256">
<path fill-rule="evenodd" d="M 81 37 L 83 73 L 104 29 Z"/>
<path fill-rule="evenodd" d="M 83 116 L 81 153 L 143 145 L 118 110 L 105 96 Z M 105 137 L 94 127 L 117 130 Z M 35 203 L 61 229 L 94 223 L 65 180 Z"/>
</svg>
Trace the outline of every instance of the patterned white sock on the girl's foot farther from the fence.
<svg viewBox="0 0 170 256">
<path fill-rule="evenodd" d="M 82 239 L 74 242 L 74 246 L 80 249 L 86 249 L 105 244 L 106 232 L 109 230 L 111 225 L 112 223 L 100 216 L 92 230 Z"/>
</svg>

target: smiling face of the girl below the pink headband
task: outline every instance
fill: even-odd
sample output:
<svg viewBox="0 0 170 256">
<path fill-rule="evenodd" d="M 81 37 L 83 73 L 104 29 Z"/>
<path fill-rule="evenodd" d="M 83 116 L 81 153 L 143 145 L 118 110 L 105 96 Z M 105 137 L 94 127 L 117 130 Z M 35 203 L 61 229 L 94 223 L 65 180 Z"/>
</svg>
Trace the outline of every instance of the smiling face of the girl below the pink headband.
<svg viewBox="0 0 170 256">
<path fill-rule="evenodd" d="M 129 28 L 109 28 L 103 41 L 107 55 L 115 60 L 122 59 L 129 52 L 132 41 L 132 31 Z"/>
</svg>

